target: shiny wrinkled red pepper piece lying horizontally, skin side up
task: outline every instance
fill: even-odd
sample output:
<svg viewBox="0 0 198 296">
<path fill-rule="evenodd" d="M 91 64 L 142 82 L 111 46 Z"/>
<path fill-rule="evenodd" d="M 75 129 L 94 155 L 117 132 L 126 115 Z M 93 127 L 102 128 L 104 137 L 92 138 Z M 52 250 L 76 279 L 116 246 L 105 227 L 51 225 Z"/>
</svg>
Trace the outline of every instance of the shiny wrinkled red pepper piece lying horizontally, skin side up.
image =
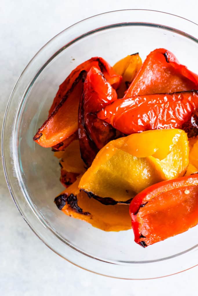
<svg viewBox="0 0 198 296">
<path fill-rule="evenodd" d="M 98 113 L 100 119 L 125 134 L 162 128 L 182 128 L 198 108 L 198 91 L 149 94 L 120 99 Z"/>
</svg>

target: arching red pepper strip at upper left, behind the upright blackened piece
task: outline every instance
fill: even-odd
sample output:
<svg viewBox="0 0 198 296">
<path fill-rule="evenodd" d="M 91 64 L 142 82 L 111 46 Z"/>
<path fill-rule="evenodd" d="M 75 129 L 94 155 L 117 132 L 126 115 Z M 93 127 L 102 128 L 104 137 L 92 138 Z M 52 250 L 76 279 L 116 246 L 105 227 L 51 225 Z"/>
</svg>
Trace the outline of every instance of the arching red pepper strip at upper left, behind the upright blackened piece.
<svg viewBox="0 0 198 296">
<path fill-rule="evenodd" d="M 72 84 L 78 77 L 81 71 L 88 72 L 91 67 L 97 67 L 100 69 L 109 83 L 113 86 L 113 88 L 117 89 L 121 83 L 122 77 L 117 75 L 113 68 L 102 58 L 102 57 L 92 57 L 82 64 L 78 65 L 65 79 L 65 81 L 59 86 L 59 90 L 54 98 L 53 104 L 49 110 L 49 115 L 55 110 L 58 104 L 66 95 L 67 91 L 72 87 Z"/>
</svg>

